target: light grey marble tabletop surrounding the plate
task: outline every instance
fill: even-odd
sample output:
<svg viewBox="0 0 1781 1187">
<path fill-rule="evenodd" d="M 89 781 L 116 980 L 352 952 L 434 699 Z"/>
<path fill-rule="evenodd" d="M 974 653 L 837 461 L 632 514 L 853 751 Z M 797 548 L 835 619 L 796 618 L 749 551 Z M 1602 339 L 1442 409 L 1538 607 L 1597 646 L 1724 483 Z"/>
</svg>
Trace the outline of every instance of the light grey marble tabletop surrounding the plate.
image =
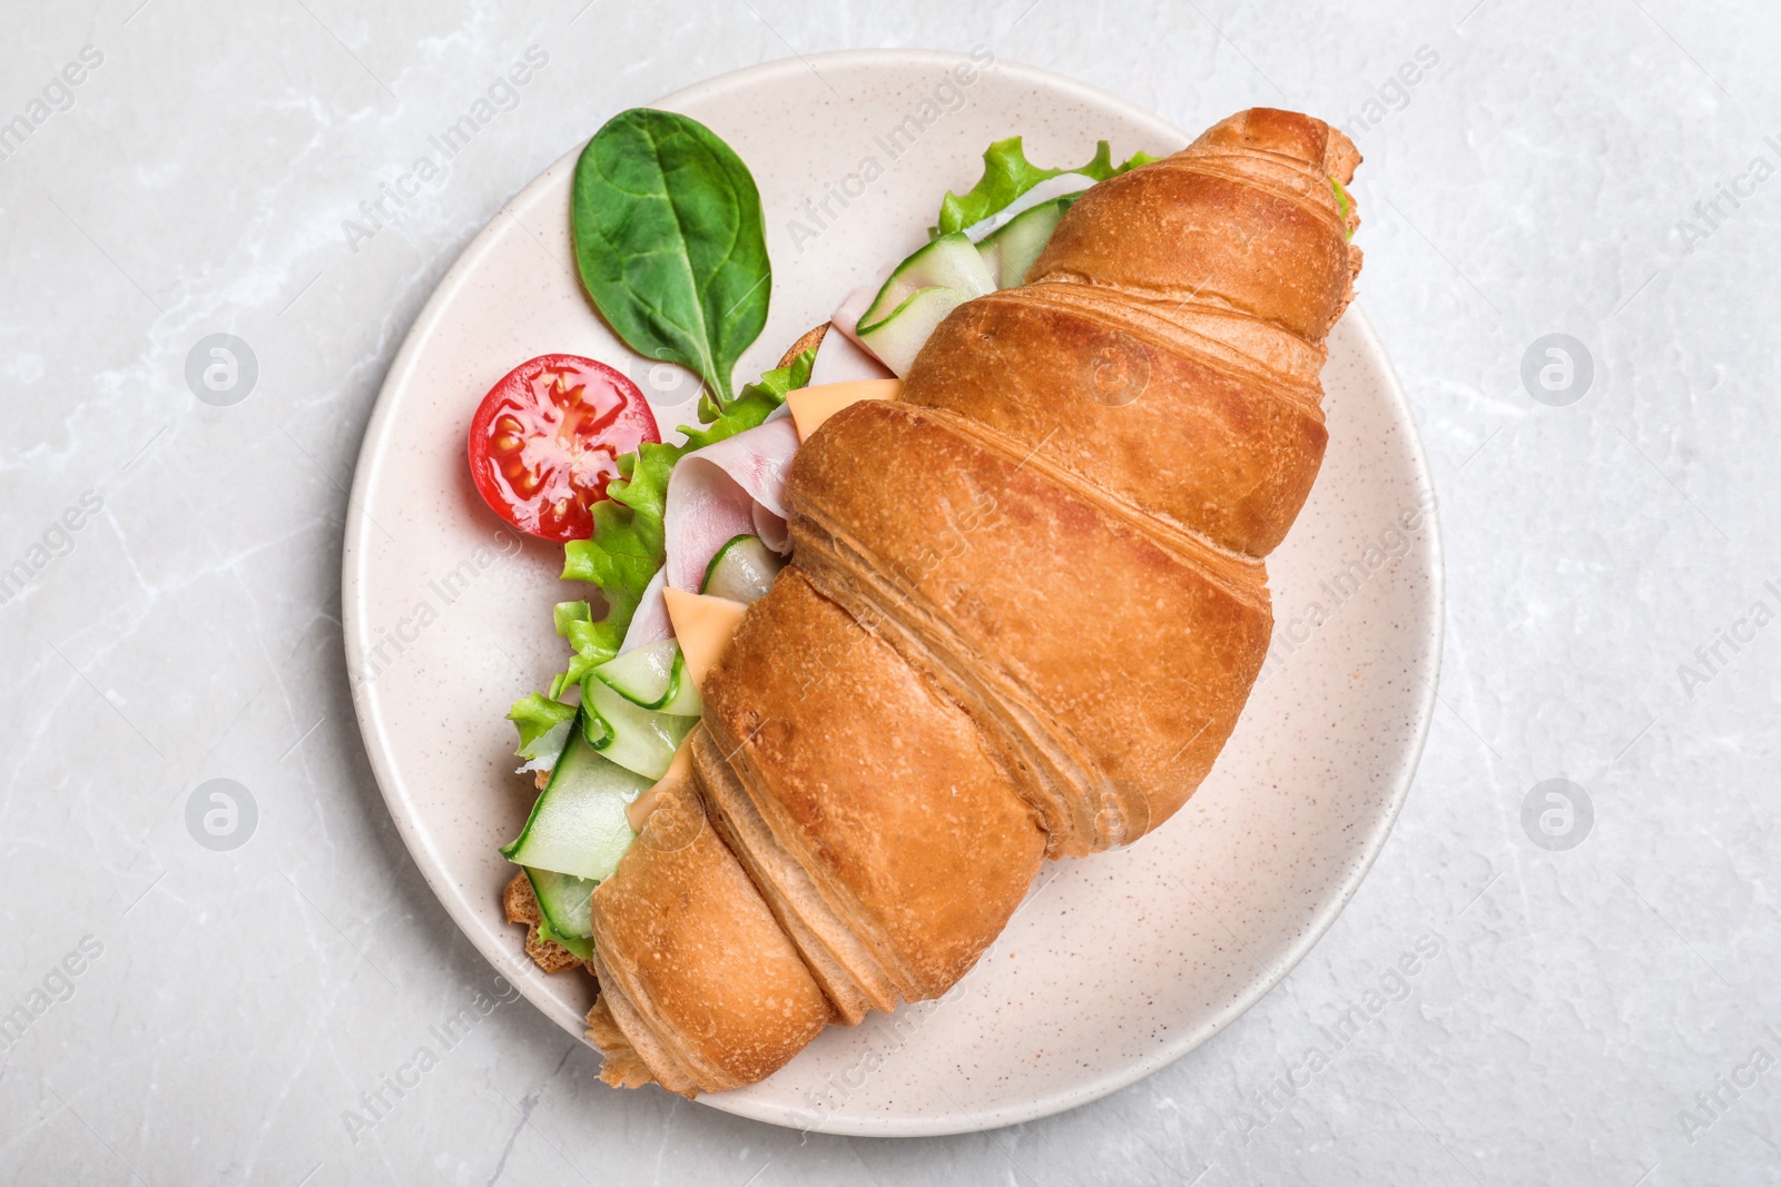
<svg viewBox="0 0 1781 1187">
<path fill-rule="evenodd" d="M 1781 1178 L 1770 5 L 581 4 L 0 14 L 5 1182 Z M 440 1043 L 499 988 L 385 813 L 338 623 L 346 488 L 397 343 L 468 237 L 614 110 L 791 53 L 974 44 L 1188 130 L 1300 107 L 1366 153 L 1362 304 L 1448 566 L 1396 833 L 1240 1023 L 994 1134 L 800 1135 L 613 1093 L 524 1002 Z M 529 46 L 549 66 L 499 135 L 353 233 Z M 233 406 L 185 377 L 217 333 L 256 359 Z M 187 826 L 210 779 L 248 792 L 235 849 Z M 1569 792 L 1565 833 L 1548 779 L 1592 819 Z M 1400 993 L 1419 943 L 1439 956 Z M 1370 993 L 1389 1007 L 1309 1071 Z M 422 1045 L 436 1066 L 351 1125 Z"/>
</svg>

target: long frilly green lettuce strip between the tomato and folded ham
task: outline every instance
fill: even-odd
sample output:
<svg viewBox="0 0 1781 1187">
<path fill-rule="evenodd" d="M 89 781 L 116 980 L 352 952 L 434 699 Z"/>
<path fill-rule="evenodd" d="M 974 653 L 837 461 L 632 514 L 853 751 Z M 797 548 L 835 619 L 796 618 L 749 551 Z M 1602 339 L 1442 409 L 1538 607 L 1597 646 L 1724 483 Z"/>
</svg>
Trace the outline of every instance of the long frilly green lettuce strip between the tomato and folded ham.
<svg viewBox="0 0 1781 1187">
<path fill-rule="evenodd" d="M 682 445 L 645 441 L 636 452 L 618 459 L 620 477 L 607 484 L 607 498 L 593 505 L 593 537 L 572 539 L 563 546 L 563 580 L 598 585 L 607 610 L 606 618 L 595 621 L 586 602 L 557 603 L 557 634 L 568 639 L 575 655 L 550 682 L 552 701 L 618 655 L 643 591 L 668 559 L 663 516 L 668 511 L 668 477 L 675 463 L 696 448 L 759 425 L 785 402 L 789 392 L 810 383 L 814 363 L 816 351 L 803 351 L 789 365 L 744 386 L 711 424 L 682 425 Z"/>
</svg>

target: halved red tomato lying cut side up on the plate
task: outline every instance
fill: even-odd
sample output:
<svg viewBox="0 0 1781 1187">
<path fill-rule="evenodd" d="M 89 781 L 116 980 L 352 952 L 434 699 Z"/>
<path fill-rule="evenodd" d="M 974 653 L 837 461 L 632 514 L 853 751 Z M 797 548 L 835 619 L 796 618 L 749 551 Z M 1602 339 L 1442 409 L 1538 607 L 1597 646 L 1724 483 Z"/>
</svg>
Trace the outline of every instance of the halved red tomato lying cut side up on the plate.
<svg viewBox="0 0 1781 1187">
<path fill-rule="evenodd" d="M 579 354 L 540 354 L 488 390 L 470 418 L 470 477 L 483 502 L 527 536 L 593 536 L 591 507 L 618 457 L 661 441 L 638 386 Z"/>
</svg>

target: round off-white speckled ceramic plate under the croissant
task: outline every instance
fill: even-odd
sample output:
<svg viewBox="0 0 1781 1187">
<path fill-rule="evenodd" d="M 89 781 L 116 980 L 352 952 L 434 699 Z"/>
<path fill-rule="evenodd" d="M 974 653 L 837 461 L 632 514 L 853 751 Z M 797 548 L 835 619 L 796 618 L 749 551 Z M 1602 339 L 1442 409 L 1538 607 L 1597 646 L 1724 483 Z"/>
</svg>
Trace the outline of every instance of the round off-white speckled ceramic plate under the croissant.
<svg viewBox="0 0 1781 1187">
<path fill-rule="evenodd" d="M 721 135 L 760 187 L 773 303 L 741 377 L 771 367 L 848 288 L 924 242 L 940 196 L 976 180 L 990 141 L 1019 133 L 1031 160 L 1067 166 L 1097 139 L 1120 157 L 1191 139 L 1024 66 L 990 62 L 960 85 L 947 73 L 960 64 L 971 62 L 835 53 L 659 101 Z M 1195 123 L 1225 114 L 1199 112 Z M 513 867 L 495 847 L 518 833 L 533 799 L 511 774 L 502 714 L 561 667 L 550 603 L 582 594 L 557 584 L 557 548 L 522 545 L 481 505 L 465 429 L 495 379 L 552 351 L 627 370 L 664 425 L 689 418 L 695 384 L 675 388 L 679 375 L 629 354 L 582 297 L 566 215 L 573 164 L 575 151 L 495 217 L 410 331 L 365 432 L 342 585 L 365 747 L 410 852 L 488 961 L 581 1036 L 590 979 L 547 977 L 524 956 L 522 931 L 500 913 Z M 1364 173 L 1355 194 L 1364 214 Z M 1330 338 L 1323 383 L 1329 456 L 1268 566 L 1275 651 L 1191 803 L 1124 852 L 1047 867 L 942 1002 L 830 1029 L 769 1080 L 703 1103 L 871 1135 L 1045 1116 L 1179 1059 L 1323 934 L 1403 803 L 1441 639 L 1432 488 L 1359 310 Z M 1307 616 L 1313 603 L 1322 614 Z"/>
</svg>

